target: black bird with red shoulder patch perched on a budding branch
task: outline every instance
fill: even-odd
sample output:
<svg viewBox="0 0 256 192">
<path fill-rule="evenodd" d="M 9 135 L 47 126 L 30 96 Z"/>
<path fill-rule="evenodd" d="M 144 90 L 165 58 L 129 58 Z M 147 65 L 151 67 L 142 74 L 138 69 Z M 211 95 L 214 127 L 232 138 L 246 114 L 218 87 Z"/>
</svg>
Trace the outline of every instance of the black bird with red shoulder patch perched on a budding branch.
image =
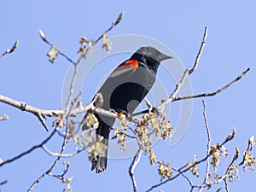
<svg viewBox="0 0 256 192">
<path fill-rule="evenodd" d="M 160 61 L 170 58 L 172 57 L 162 54 L 153 47 L 141 47 L 131 55 L 129 60 L 124 61 L 113 70 L 113 73 L 109 75 L 97 92 L 102 94 L 103 102 L 96 99 L 94 105 L 105 110 L 113 109 L 117 112 L 133 113 L 153 86 Z M 107 149 L 104 151 L 104 155 L 91 161 L 91 170 L 96 168 L 96 172 L 103 172 L 107 167 L 108 135 L 115 119 L 97 113 L 95 115 L 99 120 L 96 135 L 104 138 L 103 143 L 106 144 Z M 87 129 L 88 127 L 84 123 L 82 130 Z"/>
</svg>

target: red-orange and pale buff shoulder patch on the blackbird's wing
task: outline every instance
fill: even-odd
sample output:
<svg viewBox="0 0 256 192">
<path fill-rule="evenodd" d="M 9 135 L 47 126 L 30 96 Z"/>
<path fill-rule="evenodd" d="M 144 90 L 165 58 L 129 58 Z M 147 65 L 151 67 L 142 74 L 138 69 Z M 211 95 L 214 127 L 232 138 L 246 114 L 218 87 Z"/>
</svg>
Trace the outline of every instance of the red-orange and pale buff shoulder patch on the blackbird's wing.
<svg viewBox="0 0 256 192">
<path fill-rule="evenodd" d="M 116 68 L 113 71 L 113 73 L 110 74 L 109 77 L 113 78 L 113 77 L 116 77 L 116 76 L 118 76 L 122 73 L 129 72 L 129 71 L 135 72 L 137 70 L 137 67 L 138 67 L 138 61 L 137 60 L 125 61 L 125 63 L 123 63 L 118 68 Z"/>
</svg>

